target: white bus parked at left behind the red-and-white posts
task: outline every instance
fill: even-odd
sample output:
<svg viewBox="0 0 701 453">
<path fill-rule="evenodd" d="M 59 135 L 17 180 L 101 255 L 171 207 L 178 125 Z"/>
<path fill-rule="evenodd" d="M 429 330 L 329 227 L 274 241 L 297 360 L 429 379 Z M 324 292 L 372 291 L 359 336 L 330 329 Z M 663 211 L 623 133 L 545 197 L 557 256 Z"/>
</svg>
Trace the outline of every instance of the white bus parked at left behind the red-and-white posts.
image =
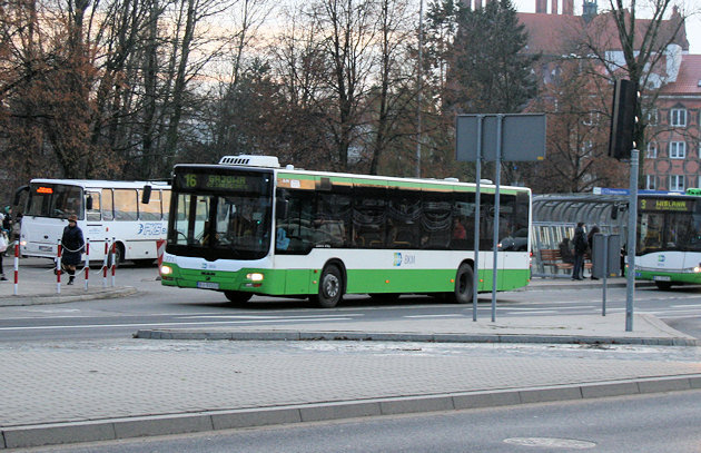
<svg viewBox="0 0 701 453">
<path fill-rule="evenodd" d="M 90 260 L 105 258 L 105 239 L 116 239 L 116 262 L 154 262 L 157 239 L 166 238 L 170 186 L 159 181 L 32 179 L 27 191 L 20 254 L 53 258 L 68 216 L 90 240 Z M 147 193 L 147 201 L 144 193 Z M 150 196 L 149 196 L 150 194 Z"/>
</svg>

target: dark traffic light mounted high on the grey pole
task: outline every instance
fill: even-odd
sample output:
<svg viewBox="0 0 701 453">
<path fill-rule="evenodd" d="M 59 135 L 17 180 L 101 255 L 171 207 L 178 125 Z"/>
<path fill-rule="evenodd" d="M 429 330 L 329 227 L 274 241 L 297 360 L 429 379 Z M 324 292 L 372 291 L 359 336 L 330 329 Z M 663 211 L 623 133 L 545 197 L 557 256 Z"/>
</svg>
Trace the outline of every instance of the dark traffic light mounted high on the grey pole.
<svg viewBox="0 0 701 453">
<path fill-rule="evenodd" d="M 630 159 L 631 149 L 636 144 L 633 134 L 638 125 L 638 91 L 630 80 L 618 79 L 613 88 L 613 115 L 609 135 L 609 156 L 616 159 Z"/>
</svg>

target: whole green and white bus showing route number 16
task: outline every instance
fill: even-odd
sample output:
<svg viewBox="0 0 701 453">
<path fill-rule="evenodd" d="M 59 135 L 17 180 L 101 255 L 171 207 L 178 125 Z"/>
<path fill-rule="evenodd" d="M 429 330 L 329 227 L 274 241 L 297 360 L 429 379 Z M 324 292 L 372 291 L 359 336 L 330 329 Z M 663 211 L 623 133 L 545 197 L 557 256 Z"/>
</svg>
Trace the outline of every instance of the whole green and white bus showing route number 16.
<svg viewBox="0 0 701 453">
<path fill-rule="evenodd" d="M 493 185 L 481 186 L 478 290 L 492 290 Z M 530 279 L 531 190 L 500 189 L 497 289 Z M 282 168 L 276 157 L 177 165 L 161 282 L 224 292 L 473 297 L 475 185 Z"/>
</svg>

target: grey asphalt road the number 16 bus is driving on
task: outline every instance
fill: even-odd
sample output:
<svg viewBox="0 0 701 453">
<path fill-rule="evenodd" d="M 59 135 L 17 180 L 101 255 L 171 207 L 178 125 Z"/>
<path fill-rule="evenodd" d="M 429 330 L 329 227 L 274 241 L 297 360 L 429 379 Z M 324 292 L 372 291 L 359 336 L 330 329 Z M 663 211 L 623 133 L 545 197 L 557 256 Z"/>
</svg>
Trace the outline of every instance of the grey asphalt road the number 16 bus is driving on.
<svg viewBox="0 0 701 453">
<path fill-rule="evenodd" d="M 226 325 L 269 326 L 402 317 L 462 317 L 472 322 L 472 305 L 435 302 L 425 296 L 403 296 L 396 303 L 378 303 L 366 296 L 348 296 L 333 309 L 313 307 L 305 299 L 254 297 L 243 307 L 227 304 L 215 292 L 164 287 L 155 267 L 122 266 L 118 285 L 135 286 L 134 296 L 66 304 L 0 308 L 0 342 L 125 338 L 139 328 L 206 327 Z M 606 313 L 625 311 L 625 288 L 609 288 Z M 602 290 L 543 289 L 500 293 L 497 318 L 557 314 L 601 314 Z M 639 288 L 635 313 L 653 314 L 679 331 L 701 338 L 701 288 L 671 290 Z M 480 297 L 480 318 L 491 316 L 491 294 Z"/>
</svg>

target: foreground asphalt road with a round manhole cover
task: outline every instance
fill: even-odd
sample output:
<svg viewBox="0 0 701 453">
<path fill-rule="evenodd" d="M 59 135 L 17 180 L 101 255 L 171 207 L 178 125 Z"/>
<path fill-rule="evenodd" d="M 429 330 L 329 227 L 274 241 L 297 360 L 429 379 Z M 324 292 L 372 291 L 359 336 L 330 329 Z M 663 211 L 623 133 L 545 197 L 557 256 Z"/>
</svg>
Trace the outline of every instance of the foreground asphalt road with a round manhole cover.
<svg viewBox="0 0 701 453">
<path fill-rule="evenodd" d="M 136 452 L 698 453 L 701 391 L 34 449 Z"/>
</svg>

